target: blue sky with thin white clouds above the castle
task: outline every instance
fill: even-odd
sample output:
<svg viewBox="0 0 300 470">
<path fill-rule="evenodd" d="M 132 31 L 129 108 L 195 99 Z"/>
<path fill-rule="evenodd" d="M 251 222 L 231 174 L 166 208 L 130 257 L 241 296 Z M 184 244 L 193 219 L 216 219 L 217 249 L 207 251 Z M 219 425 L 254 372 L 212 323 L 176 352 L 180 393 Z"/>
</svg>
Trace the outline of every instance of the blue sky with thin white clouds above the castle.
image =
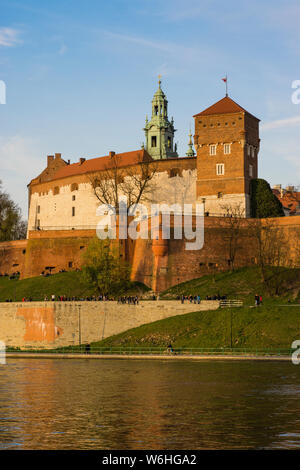
<svg viewBox="0 0 300 470">
<path fill-rule="evenodd" d="M 299 17 L 298 0 L 0 0 L 4 189 L 26 218 L 47 155 L 139 149 L 159 74 L 180 156 L 227 74 L 229 96 L 261 119 L 259 177 L 299 185 Z"/>
</svg>

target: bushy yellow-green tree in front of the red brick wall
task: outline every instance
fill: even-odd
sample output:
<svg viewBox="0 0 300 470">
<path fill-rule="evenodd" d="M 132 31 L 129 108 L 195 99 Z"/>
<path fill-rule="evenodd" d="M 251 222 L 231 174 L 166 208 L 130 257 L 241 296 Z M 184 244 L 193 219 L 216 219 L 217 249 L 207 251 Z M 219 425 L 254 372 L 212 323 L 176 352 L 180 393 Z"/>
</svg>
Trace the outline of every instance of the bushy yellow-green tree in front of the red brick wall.
<svg viewBox="0 0 300 470">
<path fill-rule="evenodd" d="M 118 246 L 108 240 L 94 238 L 83 258 L 83 275 L 101 294 L 115 294 L 128 288 L 130 267 L 120 259 Z"/>
</svg>

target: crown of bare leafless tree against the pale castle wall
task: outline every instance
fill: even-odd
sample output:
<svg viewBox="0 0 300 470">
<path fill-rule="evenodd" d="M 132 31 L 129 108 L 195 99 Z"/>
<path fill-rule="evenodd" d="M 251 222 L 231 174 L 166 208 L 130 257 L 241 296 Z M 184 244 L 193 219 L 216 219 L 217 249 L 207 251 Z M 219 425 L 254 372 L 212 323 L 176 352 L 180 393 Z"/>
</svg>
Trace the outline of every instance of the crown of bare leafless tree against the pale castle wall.
<svg viewBox="0 0 300 470">
<path fill-rule="evenodd" d="M 101 204 L 111 205 L 118 213 L 119 197 L 127 197 L 127 211 L 140 202 L 150 200 L 154 189 L 155 162 L 141 162 L 135 167 L 122 167 L 116 155 L 106 169 L 90 176 L 95 196 Z"/>
</svg>

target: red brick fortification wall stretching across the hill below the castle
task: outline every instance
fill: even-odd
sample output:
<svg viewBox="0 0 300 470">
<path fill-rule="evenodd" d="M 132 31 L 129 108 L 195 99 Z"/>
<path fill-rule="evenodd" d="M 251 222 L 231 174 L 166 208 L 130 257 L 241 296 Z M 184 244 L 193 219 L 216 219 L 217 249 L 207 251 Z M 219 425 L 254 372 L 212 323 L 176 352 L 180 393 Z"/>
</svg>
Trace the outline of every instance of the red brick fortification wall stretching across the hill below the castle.
<svg viewBox="0 0 300 470">
<path fill-rule="evenodd" d="M 300 216 L 274 220 L 290 244 L 288 264 L 298 264 Z M 245 220 L 244 223 L 248 222 Z M 227 270 L 227 223 L 226 218 L 205 218 L 201 250 L 187 251 L 185 240 L 123 241 L 124 251 L 132 264 L 132 279 L 162 291 L 179 282 Z M 0 243 L 0 273 L 21 271 L 21 277 L 27 278 L 39 276 L 49 266 L 55 268 L 53 273 L 80 268 L 81 255 L 94 236 L 93 230 L 35 231 L 30 233 L 29 240 Z M 236 267 L 255 264 L 252 243 L 245 230 L 236 255 Z"/>
</svg>

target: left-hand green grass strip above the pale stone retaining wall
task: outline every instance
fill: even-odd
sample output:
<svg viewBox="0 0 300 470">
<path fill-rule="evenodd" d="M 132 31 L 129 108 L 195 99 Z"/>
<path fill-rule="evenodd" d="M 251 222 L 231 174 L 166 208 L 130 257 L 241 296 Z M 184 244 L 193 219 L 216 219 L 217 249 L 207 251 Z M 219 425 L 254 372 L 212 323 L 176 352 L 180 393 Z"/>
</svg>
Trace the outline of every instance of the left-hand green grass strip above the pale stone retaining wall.
<svg viewBox="0 0 300 470">
<path fill-rule="evenodd" d="M 143 284 L 136 282 L 131 284 L 126 294 L 140 295 L 147 289 Z M 52 294 L 78 298 L 97 295 L 94 288 L 86 284 L 81 272 L 66 272 L 22 280 L 0 277 L 0 301 L 2 302 L 7 299 L 21 301 L 23 297 L 44 300 L 46 295 L 50 298 Z"/>
</svg>

